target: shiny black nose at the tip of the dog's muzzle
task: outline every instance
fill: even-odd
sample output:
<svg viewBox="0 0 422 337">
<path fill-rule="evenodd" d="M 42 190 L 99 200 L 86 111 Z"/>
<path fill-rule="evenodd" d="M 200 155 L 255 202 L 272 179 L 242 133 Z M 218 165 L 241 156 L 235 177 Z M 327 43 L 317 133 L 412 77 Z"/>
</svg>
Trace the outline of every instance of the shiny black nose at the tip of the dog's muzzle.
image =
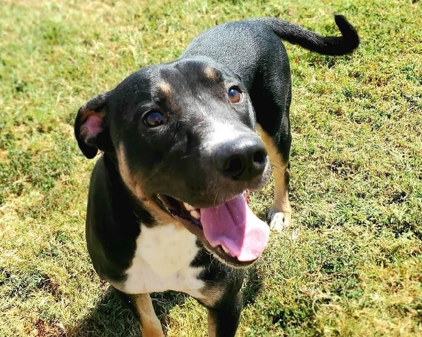
<svg viewBox="0 0 422 337">
<path fill-rule="evenodd" d="M 249 181 L 264 171 L 267 150 L 256 136 L 226 142 L 215 154 L 217 168 L 234 180 Z"/>
</svg>

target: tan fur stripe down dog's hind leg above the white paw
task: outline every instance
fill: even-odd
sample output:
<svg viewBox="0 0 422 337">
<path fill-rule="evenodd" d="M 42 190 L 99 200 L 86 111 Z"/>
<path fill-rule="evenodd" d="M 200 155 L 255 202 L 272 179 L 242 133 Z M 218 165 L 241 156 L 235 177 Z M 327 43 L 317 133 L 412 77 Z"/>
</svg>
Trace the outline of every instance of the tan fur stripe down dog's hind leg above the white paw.
<svg viewBox="0 0 422 337">
<path fill-rule="evenodd" d="M 286 218 L 284 221 L 284 225 L 286 226 L 290 224 L 292 214 L 288 195 L 288 185 L 286 183 L 290 178 L 290 170 L 287 167 L 288 162 L 282 160 L 270 135 L 265 132 L 259 124 L 256 125 L 256 130 L 259 132 L 261 139 L 267 148 L 268 156 L 270 157 L 271 164 L 274 168 L 274 203 L 269 215 L 272 216 L 277 212 L 282 212 Z"/>
</svg>

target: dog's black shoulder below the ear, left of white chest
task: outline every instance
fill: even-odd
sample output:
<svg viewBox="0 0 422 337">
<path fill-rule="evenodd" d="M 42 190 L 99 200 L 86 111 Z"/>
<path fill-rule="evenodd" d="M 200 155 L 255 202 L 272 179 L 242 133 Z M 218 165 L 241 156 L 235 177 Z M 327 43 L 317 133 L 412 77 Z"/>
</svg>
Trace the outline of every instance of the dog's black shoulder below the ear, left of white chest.
<svg viewBox="0 0 422 337">
<path fill-rule="evenodd" d="M 101 156 L 91 174 L 85 235 L 96 272 L 103 279 L 121 282 L 136 249 L 140 219 L 108 164 Z M 142 217 L 141 221 L 151 222 L 146 213 Z"/>
</svg>

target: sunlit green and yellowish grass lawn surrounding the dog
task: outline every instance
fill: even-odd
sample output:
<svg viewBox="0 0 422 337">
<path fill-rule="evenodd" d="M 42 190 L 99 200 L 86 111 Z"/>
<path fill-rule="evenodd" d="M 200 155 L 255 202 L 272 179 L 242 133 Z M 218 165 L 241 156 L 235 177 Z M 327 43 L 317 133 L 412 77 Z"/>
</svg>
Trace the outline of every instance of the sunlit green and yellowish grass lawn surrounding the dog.
<svg viewBox="0 0 422 337">
<path fill-rule="evenodd" d="M 81 104 L 215 24 L 276 16 L 337 34 L 334 13 L 360 33 L 354 54 L 286 44 L 293 226 L 249 270 L 238 336 L 422 335 L 419 1 L 0 2 L 0 336 L 139 333 L 86 252 Z M 261 217 L 272 188 L 253 195 Z M 167 336 L 206 336 L 195 300 L 154 305 Z"/>
</svg>

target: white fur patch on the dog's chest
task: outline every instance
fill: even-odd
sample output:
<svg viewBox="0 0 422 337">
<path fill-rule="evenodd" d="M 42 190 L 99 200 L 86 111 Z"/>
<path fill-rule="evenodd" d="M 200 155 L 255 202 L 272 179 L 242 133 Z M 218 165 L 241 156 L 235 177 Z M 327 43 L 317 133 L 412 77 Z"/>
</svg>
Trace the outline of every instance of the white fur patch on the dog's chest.
<svg viewBox="0 0 422 337">
<path fill-rule="evenodd" d="M 190 266 L 199 250 L 196 240 L 196 235 L 173 224 L 142 226 L 135 256 L 126 270 L 124 291 L 140 294 L 175 290 L 200 296 L 204 282 L 197 277 L 202 268 Z"/>
</svg>

